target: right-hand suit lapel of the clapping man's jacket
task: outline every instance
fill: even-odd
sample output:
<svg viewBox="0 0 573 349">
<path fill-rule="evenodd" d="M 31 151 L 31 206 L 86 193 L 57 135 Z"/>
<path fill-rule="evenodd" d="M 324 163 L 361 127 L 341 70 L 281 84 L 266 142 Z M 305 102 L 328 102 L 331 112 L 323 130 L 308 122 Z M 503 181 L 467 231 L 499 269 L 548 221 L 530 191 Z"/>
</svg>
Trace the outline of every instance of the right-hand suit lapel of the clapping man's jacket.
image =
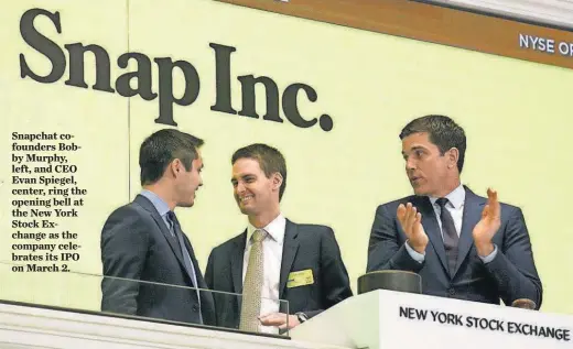
<svg viewBox="0 0 573 349">
<path fill-rule="evenodd" d="M 466 192 L 464 201 L 464 214 L 462 218 L 462 231 L 460 232 L 460 243 L 457 246 L 457 263 L 454 275 L 467 257 L 467 253 L 474 244 L 473 230 L 482 218 L 482 210 L 486 203 L 485 198 L 475 195 L 468 187 L 464 186 Z M 452 275 L 452 277 L 454 276 Z"/>
</svg>

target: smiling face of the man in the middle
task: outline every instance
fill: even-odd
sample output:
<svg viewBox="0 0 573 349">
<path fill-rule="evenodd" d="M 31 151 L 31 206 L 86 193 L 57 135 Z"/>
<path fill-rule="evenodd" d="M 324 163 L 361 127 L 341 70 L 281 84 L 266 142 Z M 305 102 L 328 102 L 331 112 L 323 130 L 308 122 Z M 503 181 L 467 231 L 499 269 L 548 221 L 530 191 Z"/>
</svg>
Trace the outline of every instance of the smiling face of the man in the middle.
<svg viewBox="0 0 573 349">
<path fill-rule="evenodd" d="M 244 215 L 257 216 L 272 209 L 278 201 L 282 183 L 279 174 L 268 178 L 255 159 L 239 159 L 233 164 L 231 184 L 235 200 Z"/>
</svg>

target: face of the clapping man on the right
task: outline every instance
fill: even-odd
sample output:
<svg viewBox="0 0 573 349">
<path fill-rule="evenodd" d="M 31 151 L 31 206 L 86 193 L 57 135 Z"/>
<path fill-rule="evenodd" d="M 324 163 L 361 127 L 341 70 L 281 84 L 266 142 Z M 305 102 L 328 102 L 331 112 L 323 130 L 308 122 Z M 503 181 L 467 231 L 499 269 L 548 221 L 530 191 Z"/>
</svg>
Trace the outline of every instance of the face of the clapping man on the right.
<svg viewBox="0 0 573 349">
<path fill-rule="evenodd" d="M 413 133 L 402 140 L 406 174 L 417 195 L 440 196 L 447 187 L 452 159 L 440 154 L 426 132 Z"/>
</svg>

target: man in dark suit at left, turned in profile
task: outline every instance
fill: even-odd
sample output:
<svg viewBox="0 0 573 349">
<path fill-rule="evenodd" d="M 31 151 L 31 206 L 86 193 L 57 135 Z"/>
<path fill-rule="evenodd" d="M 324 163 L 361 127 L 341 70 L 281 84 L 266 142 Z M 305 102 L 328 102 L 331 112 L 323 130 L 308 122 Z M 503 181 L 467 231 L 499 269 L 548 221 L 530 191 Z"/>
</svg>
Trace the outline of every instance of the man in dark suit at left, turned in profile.
<svg viewBox="0 0 573 349">
<path fill-rule="evenodd" d="M 143 190 L 101 231 L 101 310 L 174 321 L 214 323 L 213 297 L 181 230 L 175 207 L 192 207 L 203 185 L 201 139 L 166 129 L 143 141 Z M 181 287 L 185 286 L 185 287 Z M 193 287 L 193 288 L 190 288 Z"/>
</svg>

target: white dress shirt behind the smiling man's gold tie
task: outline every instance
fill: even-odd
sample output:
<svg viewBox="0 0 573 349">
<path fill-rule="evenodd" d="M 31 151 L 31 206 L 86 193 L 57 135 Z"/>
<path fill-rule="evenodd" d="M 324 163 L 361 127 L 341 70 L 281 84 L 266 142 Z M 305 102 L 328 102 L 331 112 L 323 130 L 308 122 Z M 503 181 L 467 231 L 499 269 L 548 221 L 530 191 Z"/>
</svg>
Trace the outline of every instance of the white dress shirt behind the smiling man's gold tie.
<svg viewBox="0 0 573 349">
<path fill-rule="evenodd" d="M 279 282 L 281 277 L 281 261 L 282 261 L 282 244 L 284 242 L 284 229 L 286 227 L 286 219 L 282 214 L 279 214 L 262 230 L 267 236 L 262 240 L 262 255 L 264 260 L 263 265 L 263 281 L 261 292 L 261 315 L 279 312 Z M 257 230 L 250 222 L 247 226 L 247 243 L 245 247 L 245 255 L 242 258 L 242 282 L 245 283 L 245 275 L 249 265 L 249 254 L 252 246 L 252 233 Z M 259 330 L 267 334 L 278 334 L 277 327 L 260 326 Z"/>
</svg>

